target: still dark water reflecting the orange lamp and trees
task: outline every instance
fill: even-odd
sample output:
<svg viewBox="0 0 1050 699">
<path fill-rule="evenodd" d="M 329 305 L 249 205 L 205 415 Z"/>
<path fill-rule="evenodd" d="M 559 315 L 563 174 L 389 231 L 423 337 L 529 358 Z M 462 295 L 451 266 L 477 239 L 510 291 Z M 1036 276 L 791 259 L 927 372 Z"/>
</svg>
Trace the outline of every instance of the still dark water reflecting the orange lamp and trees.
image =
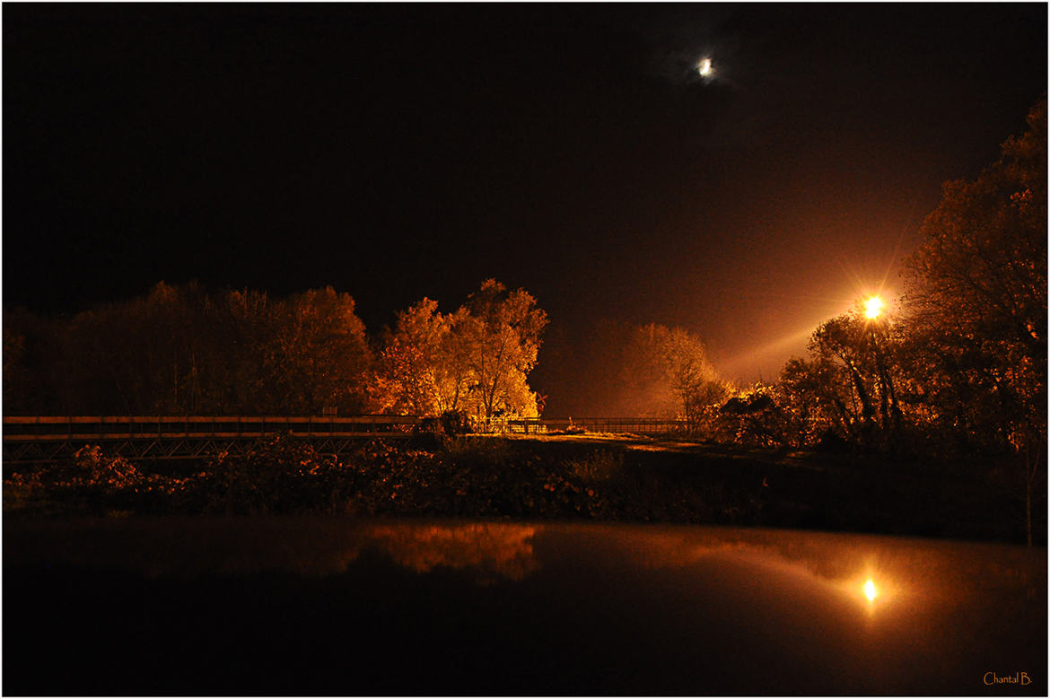
<svg viewBox="0 0 1050 699">
<path fill-rule="evenodd" d="M 277 517 L 3 546 L 5 695 L 1047 692 L 1046 549 Z"/>
</svg>

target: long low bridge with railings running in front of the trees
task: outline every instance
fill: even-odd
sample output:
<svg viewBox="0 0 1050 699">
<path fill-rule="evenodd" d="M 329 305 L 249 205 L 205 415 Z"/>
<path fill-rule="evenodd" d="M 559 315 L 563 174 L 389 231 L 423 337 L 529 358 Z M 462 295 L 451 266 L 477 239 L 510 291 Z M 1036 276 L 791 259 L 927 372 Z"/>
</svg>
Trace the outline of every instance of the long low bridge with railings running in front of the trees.
<svg viewBox="0 0 1050 699">
<path fill-rule="evenodd" d="M 86 445 L 125 459 L 201 459 L 227 451 L 244 453 L 278 433 L 309 441 L 321 453 L 345 453 L 371 439 L 405 439 L 422 420 L 415 416 L 337 417 L 5 417 L 5 464 L 50 462 L 72 457 Z M 540 435 L 572 428 L 640 435 L 684 431 L 681 420 L 660 418 L 504 419 L 484 431 Z"/>
</svg>

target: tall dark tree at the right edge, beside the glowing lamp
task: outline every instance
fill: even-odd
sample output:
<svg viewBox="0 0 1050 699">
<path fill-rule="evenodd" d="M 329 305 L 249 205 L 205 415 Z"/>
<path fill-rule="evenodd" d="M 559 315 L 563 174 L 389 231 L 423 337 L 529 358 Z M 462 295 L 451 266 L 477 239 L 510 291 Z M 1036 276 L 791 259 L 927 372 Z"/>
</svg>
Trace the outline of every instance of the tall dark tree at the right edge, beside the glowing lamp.
<svg viewBox="0 0 1050 699">
<path fill-rule="evenodd" d="M 973 182 L 945 185 L 905 269 L 910 346 L 937 420 L 1011 453 L 1032 493 L 1046 459 L 1047 112 Z"/>
</svg>

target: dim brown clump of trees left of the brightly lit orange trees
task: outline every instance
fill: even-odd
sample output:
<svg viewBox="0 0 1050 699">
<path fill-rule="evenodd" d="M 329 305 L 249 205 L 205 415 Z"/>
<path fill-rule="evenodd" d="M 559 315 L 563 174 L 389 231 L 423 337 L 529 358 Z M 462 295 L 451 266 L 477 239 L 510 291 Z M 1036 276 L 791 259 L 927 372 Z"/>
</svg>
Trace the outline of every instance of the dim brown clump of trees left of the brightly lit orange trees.
<svg viewBox="0 0 1050 699">
<path fill-rule="evenodd" d="M 5 315 L 4 333 L 5 390 L 37 415 L 356 412 L 371 361 L 331 288 L 271 301 L 160 282 L 69 319 Z"/>
</svg>

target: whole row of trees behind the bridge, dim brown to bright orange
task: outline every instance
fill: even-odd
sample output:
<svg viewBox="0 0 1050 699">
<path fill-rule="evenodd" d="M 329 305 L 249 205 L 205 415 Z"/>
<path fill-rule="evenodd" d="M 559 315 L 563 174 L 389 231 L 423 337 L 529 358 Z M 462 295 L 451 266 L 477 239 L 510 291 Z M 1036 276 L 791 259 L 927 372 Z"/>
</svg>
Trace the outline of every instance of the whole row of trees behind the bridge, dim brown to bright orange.
<svg viewBox="0 0 1050 699">
<path fill-rule="evenodd" d="M 161 282 L 69 318 L 5 311 L 4 414 L 537 417 L 527 376 L 546 322 L 492 279 L 450 314 L 424 298 L 375 338 L 331 287 Z"/>
</svg>

